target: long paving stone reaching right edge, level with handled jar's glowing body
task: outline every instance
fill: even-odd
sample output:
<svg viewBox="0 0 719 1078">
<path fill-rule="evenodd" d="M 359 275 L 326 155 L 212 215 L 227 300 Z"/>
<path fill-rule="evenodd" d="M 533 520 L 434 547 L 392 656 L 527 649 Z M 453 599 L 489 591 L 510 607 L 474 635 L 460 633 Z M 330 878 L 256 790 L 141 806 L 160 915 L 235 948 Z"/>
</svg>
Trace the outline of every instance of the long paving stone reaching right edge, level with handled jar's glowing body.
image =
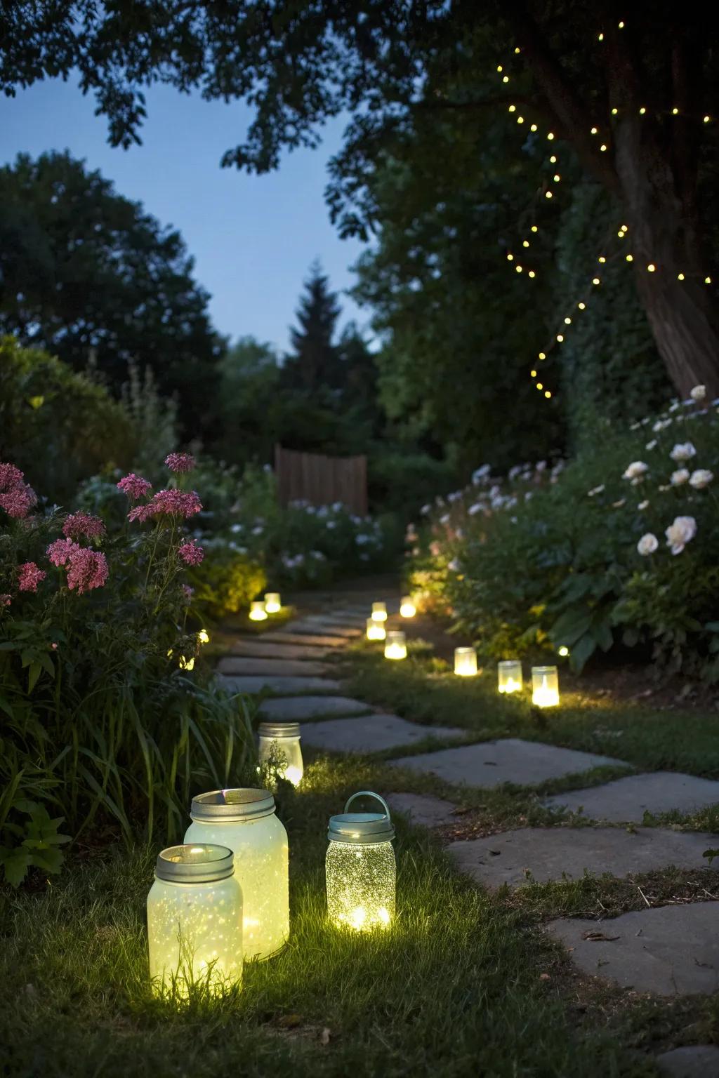
<svg viewBox="0 0 719 1078">
<path fill-rule="evenodd" d="M 530 881 L 580 880 L 584 871 L 612 876 L 653 872 L 669 865 L 706 868 L 702 856 L 716 837 L 652 827 L 636 832 L 617 827 L 525 827 L 469 842 L 453 842 L 447 851 L 457 868 L 487 887 L 522 887 Z"/>
</svg>

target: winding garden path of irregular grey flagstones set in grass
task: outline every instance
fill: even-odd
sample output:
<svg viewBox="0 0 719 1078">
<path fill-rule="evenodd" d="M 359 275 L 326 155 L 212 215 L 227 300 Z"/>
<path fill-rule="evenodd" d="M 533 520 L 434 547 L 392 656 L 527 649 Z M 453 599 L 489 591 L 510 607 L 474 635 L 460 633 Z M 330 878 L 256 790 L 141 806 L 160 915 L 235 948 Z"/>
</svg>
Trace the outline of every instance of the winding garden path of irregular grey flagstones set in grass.
<svg viewBox="0 0 719 1078">
<path fill-rule="evenodd" d="M 641 823 L 646 811 L 688 813 L 719 803 L 717 782 L 658 772 L 583 789 L 583 773 L 597 765 L 633 769 L 609 757 L 520 738 L 441 747 L 442 740 L 467 738 L 468 731 L 409 722 L 338 695 L 341 682 L 329 676 L 336 669 L 333 660 L 362 633 L 370 604 L 370 596 L 365 600 L 359 595 L 334 600 L 331 609 L 298 618 L 281 632 L 240 636 L 232 654 L 221 660 L 219 674 L 233 689 L 271 693 L 260 714 L 301 721 L 305 745 L 365 755 L 406 749 L 409 755 L 389 763 L 458 787 L 531 787 L 548 778 L 576 779 L 573 791 L 548 798 L 545 805 L 565 814 L 583 812 L 581 819 L 567 815 L 562 827 L 522 828 L 448 845 L 457 868 L 484 886 L 515 888 L 578 879 L 585 872 L 622 879 L 669 866 L 706 867 L 702 855 L 716 844 L 716 837 L 632 825 Z M 398 606 L 397 600 L 387 603 L 390 619 Z M 446 825 L 457 811 L 452 801 L 425 793 L 388 792 L 387 800 L 395 812 L 428 828 Z M 598 826 L 603 823 L 627 826 Z M 568 917 L 552 921 L 547 929 L 585 973 L 635 991 L 681 996 L 719 990 L 718 916 L 719 901 L 707 901 L 625 913 L 605 921 L 604 930 L 597 930 L 596 921 Z M 694 1046 L 665 1053 L 658 1065 L 667 1075 L 706 1075 L 709 1056 L 716 1065 L 717 1055 L 718 1049 Z"/>
</svg>

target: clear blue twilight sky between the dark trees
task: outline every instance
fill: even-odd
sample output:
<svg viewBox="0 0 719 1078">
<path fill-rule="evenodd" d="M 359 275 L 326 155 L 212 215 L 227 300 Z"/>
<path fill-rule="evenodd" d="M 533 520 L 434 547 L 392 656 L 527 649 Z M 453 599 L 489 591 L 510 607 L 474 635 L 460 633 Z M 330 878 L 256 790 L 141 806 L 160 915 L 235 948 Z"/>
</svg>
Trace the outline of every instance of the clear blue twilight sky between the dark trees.
<svg viewBox="0 0 719 1078">
<path fill-rule="evenodd" d="M 362 249 L 341 240 L 323 201 L 326 165 L 342 140 L 342 123 L 327 128 L 319 150 L 286 154 L 280 169 L 247 176 L 220 168 L 224 150 L 244 140 L 248 109 L 203 101 L 171 87 L 147 94 L 142 146 L 112 149 L 107 121 L 73 81 L 53 80 L 0 98 L 0 164 L 19 152 L 69 150 L 143 203 L 163 224 L 179 229 L 195 259 L 195 277 L 210 292 L 217 329 L 251 334 L 284 349 L 307 275 L 319 258 L 333 289 L 354 282 L 349 266 Z M 341 296 L 340 324 L 367 326 L 369 310 Z"/>
</svg>

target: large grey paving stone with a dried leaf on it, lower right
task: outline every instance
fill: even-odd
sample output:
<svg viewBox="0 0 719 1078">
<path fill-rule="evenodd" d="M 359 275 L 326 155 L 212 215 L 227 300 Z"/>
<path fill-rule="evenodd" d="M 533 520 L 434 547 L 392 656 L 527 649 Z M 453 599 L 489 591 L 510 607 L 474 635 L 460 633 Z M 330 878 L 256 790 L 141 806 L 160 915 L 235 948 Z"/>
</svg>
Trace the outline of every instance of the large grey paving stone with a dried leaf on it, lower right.
<svg viewBox="0 0 719 1078">
<path fill-rule="evenodd" d="M 548 928 L 585 973 L 636 992 L 685 996 L 719 989 L 717 918 L 719 902 L 692 902 L 606 921 L 552 921 Z"/>
</svg>

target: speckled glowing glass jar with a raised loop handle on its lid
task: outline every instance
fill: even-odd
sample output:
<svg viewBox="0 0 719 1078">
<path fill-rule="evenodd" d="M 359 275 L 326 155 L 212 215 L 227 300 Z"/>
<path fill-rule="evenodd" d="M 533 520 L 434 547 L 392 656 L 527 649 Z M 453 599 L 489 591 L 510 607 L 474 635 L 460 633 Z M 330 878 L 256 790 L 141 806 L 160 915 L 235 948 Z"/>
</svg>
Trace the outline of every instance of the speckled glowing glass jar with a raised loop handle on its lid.
<svg viewBox="0 0 719 1078">
<path fill-rule="evenodd" d="M 356 798 L 376 798 L 384 813 L 348 813 Z M 340 816 L 330 817 L 327 912 L 338 928 L 387 928 L 395 917 L 397 868 L 389 808 L 378 793 L 352 793 Z"/>
</svg>

